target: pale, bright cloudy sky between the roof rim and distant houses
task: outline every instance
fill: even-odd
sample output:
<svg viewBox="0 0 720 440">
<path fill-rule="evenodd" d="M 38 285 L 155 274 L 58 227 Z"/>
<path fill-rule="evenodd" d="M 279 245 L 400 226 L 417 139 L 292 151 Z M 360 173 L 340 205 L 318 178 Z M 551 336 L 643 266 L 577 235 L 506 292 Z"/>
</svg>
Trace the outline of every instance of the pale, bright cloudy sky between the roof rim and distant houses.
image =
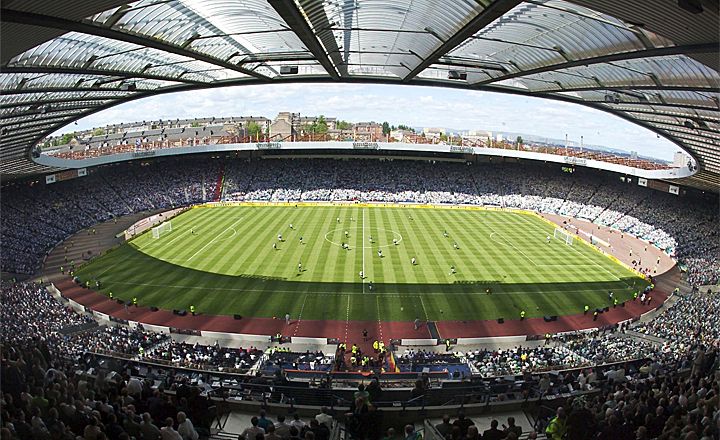
<svg viewBox="0 0 720 440">
<path fill-rule="evenodd" d="M 366 84 L 273 84 L 164 94 L 121 104 L 56 132 L 143 120 L 265 116 L 289 111 L 350 122 L 519 132 L 603 145 L 672 160 L 678 147 L 640 126 L 589 107 L 502 93 Z"/>
</svg>

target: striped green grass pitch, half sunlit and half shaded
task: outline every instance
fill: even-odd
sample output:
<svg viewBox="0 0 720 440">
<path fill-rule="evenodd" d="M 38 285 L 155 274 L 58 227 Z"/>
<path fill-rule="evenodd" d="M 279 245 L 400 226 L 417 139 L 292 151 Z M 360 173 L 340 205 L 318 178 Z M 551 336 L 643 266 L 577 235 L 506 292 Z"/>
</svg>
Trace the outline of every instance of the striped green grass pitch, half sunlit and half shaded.
<svg viewBox="0 0 720 440">
<path fill-rule="evenodd" d="M 207 314 L 384 321 L 573 314 L 586 304 L 609 305 L 609 290 L 623 301 L 633 285 L 645 285 L 578 241 L 546 243 L 554 228 L 540 218 L 505 211 L 214 207 L 189 210 L 172 219 L 172 229 L 159 239 L 145 233 L 78 276 L 100 279 L 115 297 L 166 309 L 193 304 Z"/>
</svg>

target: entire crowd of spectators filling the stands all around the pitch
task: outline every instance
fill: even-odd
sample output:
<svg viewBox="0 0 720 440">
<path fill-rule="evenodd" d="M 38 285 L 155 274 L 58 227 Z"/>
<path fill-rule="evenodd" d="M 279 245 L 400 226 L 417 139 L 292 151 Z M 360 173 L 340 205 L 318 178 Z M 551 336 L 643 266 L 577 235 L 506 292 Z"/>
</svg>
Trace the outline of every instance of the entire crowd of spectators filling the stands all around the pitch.
<svg viewBox="0 0 720 440">
<path fill-rule="evenodd" d="M 217 162 L 196 159 L 148 166 L 122 164 L 69 182 L 4 187 L 2 270 L 36 271 L 52 246 L 97 222 L 210 200 L 220 168 Z M 720 275 L 717 204 L 690 206 L 674 195 L 600 175 L 578 178 L 515 165 L 323 160 L 235 162 L 226 170 L 224 194 L 229 200 L 365 200 L 534 209 L 586 218 L 652 241 L 674 252 L 687 266 L 691 284 L 717 283 Z M 569 386 L 586 388 L 599 380 L 599 374 L 610 378 L 610 387 L 600 397 L 578 399 L 567 415 L 563 412 L 569 438 L 717 438 L 719 298 L 706 292 L 684 294 L 659 317 L 633 329 L 662 338 L 664 343 L 588 334 L 543 347 L 476 351 L 465 356 L 488 377 L 647 357 L 650 360 L 637 370 L 620 364 L 602 373 L 591 368 L 541 379 L 544 391 L 561 392 Z M 254 349 L 190 345 L 121 326 L 66 335 L 62 330 L 92 323 L 92 318 L 75 313 L 33 284 L 1 282 L 0 303 L 1 428 L 2 437 L 12 440 L 195 439 L 207 425 L 208 403 L 198 389 L 174 384 L 177 393 L 171 397 L 153 389 L 150 381 L 138 382 L 125 374 L 89 381 L 77 375 L 71 361 L 84 351 L 238 370 L 262 354 Z M 324 357 L 318 361 L 318 355 L 313 356 L 314 362 L 324 365 Z M 453 355 L 416 352 L 407 359 L 399 357 L 398 362 L 443 363 L 452 360 L 448 356 Z M 283 357 L 280 364 L 304 362 L 298 359 Z M 684 369 L 691 369 L 691 375 L 681 375 Z M 372 417 L 374 411 L 369 401 L 360 410 L 369 414 L 364 417 Z M 332 417 L 325 412 L 318 417 L 307 424 L 299 418 L 286 423 L 278 417 L 275 424 L 261 415 L 255 433 L 262 428 L 276 437 L 326 440 L 331 428 L 326 422 Z M 461 424 L 467 425 L 472 437 L 481 438 L 471 424 Z M 412 426 L 409 431 L 405 428 L 406 437 L 413 432 Z M 584 432 L 596 437 L 584 436 Z M 450 438 L 456 438 L 452 429 Z"/>
</svg>

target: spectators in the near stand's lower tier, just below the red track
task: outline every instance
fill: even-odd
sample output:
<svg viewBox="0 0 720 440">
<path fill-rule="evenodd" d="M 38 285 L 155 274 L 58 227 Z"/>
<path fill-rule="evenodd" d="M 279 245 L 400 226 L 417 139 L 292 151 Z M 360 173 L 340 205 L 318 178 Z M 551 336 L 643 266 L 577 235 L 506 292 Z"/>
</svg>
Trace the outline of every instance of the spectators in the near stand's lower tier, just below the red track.
<svg viewBox="0 0 720 440">
<path fill-rule="evenodd" d="M 40 339 L 56 353 L 75 356 L 85 351 L 110 353 L 176 367 L 225 372 L 247 372 L 264 354 L 254 347 L 229 348 L 217 342 L 213 345 L 188 344 L 173 340 L 166 334 L 125 326 L 94 327 L 65 335 L 60 330 L 92 323 L 93 319 L 61 305 L 44 287 L 7 281 L 3 281 L 1 286 L 3 341 L 15 337 Z M 718 319 L 719 298 L 718 294 L 707 292 L 678 295 L 673 307 L 665 309 L 658 318 L 633 328 L 636 332 L 662 338 L 660 342 L 611 331 L 592 331 L 556 336 L 552 344 L 535 347 L 471 350 L 465 353 L 408 350 L 396 355 L 395 362 L 401 371 L 421 371 L 426 367 L 431 370 L 450 369 L 470 364 L 473 371 L 483 377 L 570 369 L 639 358 L 669 363 L 684 356 L 696 343 L 707 346 L 720 344 L 720 326 L 715 322 Z M 287 369 L 325 371 L 331 369 L 332 364 L 332 356 L 322 352 L 273 350 L 266 355 L 261 368 L 269 374 Z"/>
</svg>

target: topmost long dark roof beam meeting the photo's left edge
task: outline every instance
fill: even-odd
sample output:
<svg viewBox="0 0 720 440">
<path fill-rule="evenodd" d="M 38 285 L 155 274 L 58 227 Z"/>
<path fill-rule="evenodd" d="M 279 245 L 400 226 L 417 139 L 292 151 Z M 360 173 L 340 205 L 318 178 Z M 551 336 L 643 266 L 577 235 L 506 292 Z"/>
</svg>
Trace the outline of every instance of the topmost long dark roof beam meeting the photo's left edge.
<svg viewBox="0 0 720 440">
<path fill-rule="evenodd" d="M 237 66 L 224 60 L 205 55 L 200 52 L 189 50 L 181 46 L 166 43 L 159 39 L 151 36 L 133 35 L 127 32 L 118 31 L 115 29 L 105 28 L 90 23 L 78 22 L 72 20 L 66 20 L 63 18 L 52 17 L 49 15 L 33 14 L 29 12 L 21 12 L 13 9 L 2 9 L 0 10 L 0 17 L 2 21 L 9 23 L 20 23 L 30 24 L 40 27 L 51 27 L 64 31 L 80 32 L 88 35 L 96 35 L 99 37 L 105 37 L 112 40 L 124 41 L 126 43 L 137 44 L 141 47 L 150 47 L 153 49 L 161 50 L 163 52 L 174 53 L 176 55 L 194 58 L 199 61 L 214 64 L 219 67 L 223 67 L 228 70 L 234 70 L 236 72 L 243 73 L 245 75 L 254 76 L 257 79 L 263 79 L 270 81 L 271 78 L 255 72 L 254 70 L 246 69 L 244 67 Z"/>
</svg>

